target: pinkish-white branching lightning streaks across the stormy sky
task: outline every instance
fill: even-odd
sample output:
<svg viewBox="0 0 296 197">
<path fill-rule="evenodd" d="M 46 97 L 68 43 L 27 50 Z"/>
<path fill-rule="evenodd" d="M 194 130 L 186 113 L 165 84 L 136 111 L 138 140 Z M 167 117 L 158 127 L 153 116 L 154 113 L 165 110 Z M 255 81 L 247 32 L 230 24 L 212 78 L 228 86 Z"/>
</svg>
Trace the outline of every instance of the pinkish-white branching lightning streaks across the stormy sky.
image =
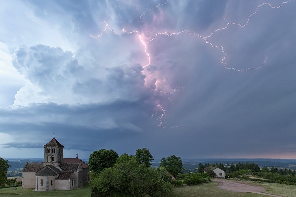
<svg viewBox="0 0 296 197">
<path fill-rule="evenodd" d="M 220 31 L 220 30 L 225 30 L 225 29 L 227 29 L 227 28 L 229 27 L 229 25 L 238 25 L 238 26 L 240 26 L 240 27 L 242 27 L 242 28 L 245 27 L 245 26 L 249 23 L 249 21 L 250 21 L 250 17 L 251 17 L 252 15 L 256 14 L 257 11 L 258 11 L 258 9 L 259 9 L 261 6 L 263 6 L 263 5 L 269 5 L 271 8 L 276 9 L 276 8 L 279 8 L 279 7 L 283 6 L 284 4 L 288 3 L 289 1 L 290 1 L 290 0 L 285 1 L 285 2 L 282 2 L 281 5 L 279 5 L 279 6 L 272 6 L 270 3 L 263 3 L 263 4 L 259 5 L 259 6 L 257 6 L 255 12 L 253 12 L 252 14 L 250 14 L 250 15 L 248 16 L 248 20 L 247 20 L 247 22 L 246 22 L 244 25 L 242 25 L 242 24 L 240 24 L 240 23 L 228 22 L 228 21 L 226 20 L 226 17 L 224 16 L 223 18 L 224 18 L 225 21 L 227 21 L 227 25 L 226 25 L 225 27 L 223 27 L 223 28 L 219 28 L 219 29 L 214 30 L 214 31 L 213 31 L 212 33 L 210 33 L 210 35 L 208 35 L 208 36 L 202 36 L 202 35 L 199 35 L 199 34 L 197 34 L 197 33 L 192 33 L 192 32 L 190 32 L 189 30 L 182 30 L 182 31 L 180 31 L 180 32 L 173 32 L 173 33 L 171 33 L 171 34 L 169 34 L 168 32 L 158 32 L 158 33 L 157 33 L 157 34 L 156 34 L 151 40 L 149 40 L 149 41 L 144 41 L 141 32 L 139 32 L 139 31 L 137 31 L 137 30 L 134 30 L 134 31 L 131 31 L 131 32 L 127 32 L 127 31 L 125 31 L 125 30 L 123 29 L 122 31 L 125 32 L 125 33 L 127 33 L 127 34 L 133 34 L 133 33 L 136 33 L 136 34 L 138 35 L 140 42 L 141 42 L 142 45 L 144 46 L 144 52 L 146 53 L 147 58 L 148 58 L 148 63 L 145 64 L 145 65 L 143 66 L 143 69 L 144 69 L 146 66 L 149 66 L 150 63 L 151 63 L 151 60 L 150 60 L 150 54 L 147 52 L 147 45 L 150 44 L 153 40 L 155 40 L 155 39 L 157 38 L 157 36 L 160 36 L 160 35 L 166 35 L 166 36 L 168 36 L 168 37 L 171 37 L 171 36 L 173 36 L 173 35 L 179 35 L 179 34 L 182 34 L 182 33 L 187 33 L 187 34 L 189 34 L 189 35 L 194 35 L 194 36 L 197 36 L 197 37 L 203 39 L 207 44 L 210 44 L 212 48 L 220 48 L 221 51 L 224 53 L 224 56 L 223 56 L 223 58 L 221 58 L 221 62 L 220 62 L 220 63 L 224 65 L 225 69 L 230 69 L 230 70 L 239 71 L 239 72 L 244 72 L 244 71 L 247 71 L 247 70 L 257 70 L 257 69 L 262 68 L 262 67 L 265 65 L 266 60 L 267 60 L 267 57 L 265 58 L 263 64 L 261 64 L 261 66 L 259 66 L 259 67 L 257 67 L 257 68 L 251 68 L 251 67 L 249 67 L 249 68 L 247 68 L 247 69 L 243 69 L 243 70 L 235 69 L 235 68 L 229 68 L 229 67 L 226 66 L 226 63 L 227 63 L 227 62 L 224 62 L 224 60 L 226 59 L 226 52 L 224 51 L 223 46 L 215 46 L 215 45 L 213 45 L 211 42 L 208 41 L 208 38 L 210 38 L 215 32 L 218 32 L 218 31 Z M 146 14 L 146 12 L 147 12 L 148 10 L 156 9 L 158 6 L 162 6 L 162 5 L 165 5 L 165 4 L 167 4 L 167 3 L 168 3 L 168 0 L 166 1 L 166 3 L 164 3 L 164 4 L 158 4 L 158 5 L 157 5 L 156 7 L 154 7 L 154 8 L 147 8 L 146 11 L 145 11 L 143 14 L 141 14 L 141 16 L 140 16 L 140 20 L 141 20 L 141 22 L 143 22 L 141 17 L 142 17 L 144 14 Z M 114 32 L 112 29 L 109 28 L 107 22 L 103 22 L 103 23 L 106 23 L 106 26 L 105 26 L 104 30 L 102 30 L 101 34 L 98 35 L 98 36 L 96 36 L 96 37 L 91 35 L 91 37 L 94 37 L 94 38 L 99 39 L 99 37 L 102 36 L 102 35 L 103 35 L 103 32 L 106 31 L 107 29 L 110 30 L 110 31 L 112 31 L 114 34 L 117 34 L 117 33 Z M 144 71 L 143 71 L 143 74 L 144 74 Z M 173 89 L 172 92 L 166 92 L 166 91 L 163 91 L 163 90 L 155 90 L 155 91 L 162 92 L 162 93 L 164 93 L 164 94 L 170 95 L 170 94 L 175 93 L 176 91 L 180 92 L 179 88 L 182 88 L 182 89 L 183 89 L 182 86 L 178 86 L 178 87 L 176 87 L 175 89 Z M 183 89 L 183 90 L 184 90 L 184 89 Z M 180 92 L 180 93 L 181 93 L 181 92 Z M 168 98 L 168 100 L 172 101 L 170 98 Z M 151 116 L 151 118 L 152 118 L 154 115 L 159 115 L 159 117 L 155 120 L 155 122 L 159 121 L 158 126 L 160 126 L 160 127 L 162 127 L 162 128 L 176 128 L 176 127 L 182 127 L 182 126 L 185 126 L 185 125 L 178 125 L 178 126 L 163 126 L 162 124 L 163 124 L 163 122 L 165 122 L 165 120 L 166 120 L 167 110 L 165 110 L 160 104 L 157 104 L 157 107 L 160 108 L 160 111 L 161 111 L 160 114 L 161 114 L 161 115 L 159 115 L 159 114 L 156 112 L 156 113 L 153 113 L 153 115 Z"/>
</svg>

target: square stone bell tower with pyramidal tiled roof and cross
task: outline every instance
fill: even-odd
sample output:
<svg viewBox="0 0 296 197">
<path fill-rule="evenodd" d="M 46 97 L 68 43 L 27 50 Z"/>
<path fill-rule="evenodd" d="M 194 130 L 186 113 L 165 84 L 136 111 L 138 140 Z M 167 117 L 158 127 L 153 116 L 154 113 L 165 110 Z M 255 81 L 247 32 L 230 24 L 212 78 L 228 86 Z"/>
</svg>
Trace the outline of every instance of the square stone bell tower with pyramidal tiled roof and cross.
<svg viewBox="0 0 296 197">
<path fill-rule="evenodd" d="M 53 165 L 59 166 L 64 162 L 64 146 L 55 138 L 49 141 L 44 146 L 44 162 L 43 166 Z"/>
</svg>

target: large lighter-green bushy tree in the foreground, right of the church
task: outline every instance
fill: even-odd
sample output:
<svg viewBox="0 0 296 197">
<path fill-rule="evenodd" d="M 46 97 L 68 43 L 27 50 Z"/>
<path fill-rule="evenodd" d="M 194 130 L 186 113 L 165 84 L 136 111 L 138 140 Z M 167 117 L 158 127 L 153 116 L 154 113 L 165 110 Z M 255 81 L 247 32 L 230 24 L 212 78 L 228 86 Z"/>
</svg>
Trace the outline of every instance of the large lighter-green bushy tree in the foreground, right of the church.
<svg viewBox="0 0 296 197">
<path fill-rule="evenodd" d="M 168 196 L 171 177 L 165 168 L 147 167 L 131 157 L 129 161 L 105 168 L 91 180 L 91 196 Z"/>
</svg>

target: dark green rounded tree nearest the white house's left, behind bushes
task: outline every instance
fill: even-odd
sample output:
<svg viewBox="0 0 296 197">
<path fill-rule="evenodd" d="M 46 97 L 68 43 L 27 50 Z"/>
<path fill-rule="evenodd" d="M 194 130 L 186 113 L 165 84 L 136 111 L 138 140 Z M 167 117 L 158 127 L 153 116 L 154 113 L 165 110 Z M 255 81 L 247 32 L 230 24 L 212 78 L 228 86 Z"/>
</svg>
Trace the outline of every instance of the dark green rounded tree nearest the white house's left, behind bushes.
<svg viewBox="0 0 296 197">
<path fill-rule="evenodd" d="M 184 170 L 181 158 L 176 155 L 163 157 L 160 160 L 160 166 L 165 167 L 174 176 L 181 174 Z"/>
</svg>

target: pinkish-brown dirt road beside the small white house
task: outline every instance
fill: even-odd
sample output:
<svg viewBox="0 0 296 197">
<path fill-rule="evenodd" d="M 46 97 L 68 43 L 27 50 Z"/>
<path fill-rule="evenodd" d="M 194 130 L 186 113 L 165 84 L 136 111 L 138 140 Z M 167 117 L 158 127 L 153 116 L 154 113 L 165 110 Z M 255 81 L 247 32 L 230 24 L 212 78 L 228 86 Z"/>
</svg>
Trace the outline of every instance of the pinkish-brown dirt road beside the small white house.
<svg viewBox="0 0 296 197">
<path fill-rule="evenodd" d="M 228 191 L 249 192 L 249 193 L 258 193 L 266 196 L 276 196 L 272 194 L 262 193 L 264 188 L 257 185 L 251 185 L 247 183 L 238 183 L 238 182 L 229 181 L 225 179 L 211 179 L 211 180 L 218 182 L 219 188 L 228 190 Z M 276 197 L 281 197 L 281 196 L 276 196 Z"/>
</svg>

